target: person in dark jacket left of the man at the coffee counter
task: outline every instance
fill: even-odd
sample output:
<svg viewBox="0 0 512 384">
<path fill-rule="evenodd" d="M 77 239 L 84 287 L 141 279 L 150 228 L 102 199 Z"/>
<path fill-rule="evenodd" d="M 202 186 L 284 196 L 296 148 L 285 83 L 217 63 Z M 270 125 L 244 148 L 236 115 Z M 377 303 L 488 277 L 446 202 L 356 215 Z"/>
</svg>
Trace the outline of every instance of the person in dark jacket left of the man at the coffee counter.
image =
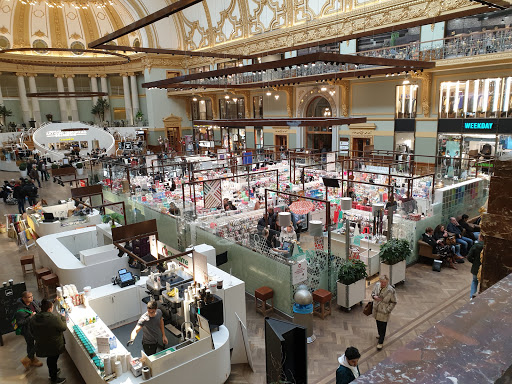
<svg viewBox="0 0 512 384">
<path fill-rule="evenodd" d="M 27 343 L 27 356 L 21 359 L 21 363 L 25 369 L 28 369 L 30 366 L 41 367 L 43 363 L 35 357 L 36 349 L 34 346 L 34 337 L 29 327 L 30 318 L 41 310 L 38 303 L 34 301 L 32 292 L 29 291 L 23 292 L 16 304 L 14 318 L 16 319 L 18 328 L 21 330 L 20 334 L 25 338 L 25 342 Z"/>
</svg>

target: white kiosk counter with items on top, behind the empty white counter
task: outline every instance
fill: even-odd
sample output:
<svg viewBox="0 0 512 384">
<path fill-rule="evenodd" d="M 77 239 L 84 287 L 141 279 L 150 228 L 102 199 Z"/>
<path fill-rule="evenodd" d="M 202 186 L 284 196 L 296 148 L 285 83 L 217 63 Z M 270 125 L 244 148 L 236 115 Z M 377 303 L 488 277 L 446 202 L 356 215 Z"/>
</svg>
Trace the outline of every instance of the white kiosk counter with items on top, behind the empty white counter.
<svg viewBox="0 0 512 384">
<path fill-rule="evenodd" d="M 101 223 L 101 215 L 98 210 L 93 209 L 90 214 L 84 216 L 68 217 L 68 212 L 73 209 L 75 209 L 73 202 L 42 207 L 43 213 L 52 213 L 55 221 L 44 222 L 42 214 L 32 213 L 28 215 L 28 225 L 38 237 L 43 237 Z"/>
</svg>

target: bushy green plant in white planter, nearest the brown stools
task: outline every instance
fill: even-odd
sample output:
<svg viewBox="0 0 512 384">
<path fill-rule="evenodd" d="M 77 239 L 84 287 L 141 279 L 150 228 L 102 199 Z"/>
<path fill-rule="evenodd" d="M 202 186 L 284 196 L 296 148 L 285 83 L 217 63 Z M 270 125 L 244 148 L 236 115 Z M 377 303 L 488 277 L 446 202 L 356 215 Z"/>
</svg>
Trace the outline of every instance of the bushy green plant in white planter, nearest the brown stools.
<svg viewBox="0 0 512 384">
<path fill-rule="evenodd" d="M 338 281 L 336 282 L 337 304 L 349 311 L 355 304 L 362 304 L 367 276 L 366 264 L 361 260 L 342 260 L 338 270 Z"/>
</svg>

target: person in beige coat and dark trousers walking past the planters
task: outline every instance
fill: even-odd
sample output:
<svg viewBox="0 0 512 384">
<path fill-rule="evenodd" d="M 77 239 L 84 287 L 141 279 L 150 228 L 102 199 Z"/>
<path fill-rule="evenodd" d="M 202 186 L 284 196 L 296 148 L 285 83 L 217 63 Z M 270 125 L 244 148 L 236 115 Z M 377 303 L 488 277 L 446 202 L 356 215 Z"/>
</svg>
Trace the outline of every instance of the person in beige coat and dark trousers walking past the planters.
<svg viewBox="0 0 512 384">
<path fill-rule="evenodd" d="M 380 351 L 386 337 L 389 315 L 397 303 L 395 288 L 389 284 L 389 278 L 386 275 L 380 276 L 379 281 L 373 287 L 372 298 L 373 317 L 377 321 L 377 331 L 379 332 L 377 349 Z"/>
</svg>

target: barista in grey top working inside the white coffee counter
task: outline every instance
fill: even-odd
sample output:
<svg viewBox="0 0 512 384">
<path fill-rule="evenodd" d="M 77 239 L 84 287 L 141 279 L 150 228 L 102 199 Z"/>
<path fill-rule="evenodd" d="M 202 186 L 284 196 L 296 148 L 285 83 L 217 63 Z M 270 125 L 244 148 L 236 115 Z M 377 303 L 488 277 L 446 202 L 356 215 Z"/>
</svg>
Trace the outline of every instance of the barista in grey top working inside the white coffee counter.
<svg viewBox="0 0 512 384">
<path fill-rule="evenodd" d="M 150 301 L 147 305 L 148 311 L 143 314 L 133 329 L 128 346 L 133 344 L 137 334 L 142 329 L 142 348 L 147 356 L 154 355 L 158 349 L 162 350 L 167 344 L 165 337 L 164 319 L 162 311 L 157 308 L 156 301 Z M 162 345 L 160 345 L 162 340 Z"/>
</svg>

